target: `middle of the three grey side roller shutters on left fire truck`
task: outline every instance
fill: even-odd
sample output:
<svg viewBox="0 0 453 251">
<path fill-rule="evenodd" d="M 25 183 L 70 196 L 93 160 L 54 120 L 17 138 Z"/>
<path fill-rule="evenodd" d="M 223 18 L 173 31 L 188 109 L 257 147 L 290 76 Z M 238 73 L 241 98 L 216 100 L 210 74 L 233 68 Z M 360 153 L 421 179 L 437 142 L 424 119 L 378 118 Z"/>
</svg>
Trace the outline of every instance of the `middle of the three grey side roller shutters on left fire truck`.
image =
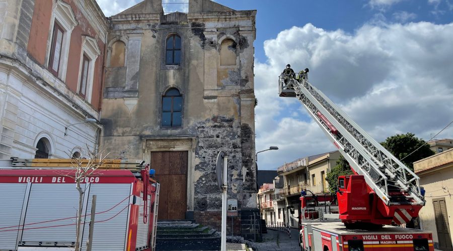
<svg viewBox="0 0 453 251">
<path fill-rule="evenodd" d="M 85 184 L 81 184 L 85 189 Z M 33 183 L 30 189 L 27 212 L 25 214 L 25 227 L 22 242 L 58 242 L 65 245 L 75 241 L 74 217 L 79 207 L 79 191 L 74 183 L 69 184 L 44 184 Z M 62 218 L 65 220 L 44 222 L 28 225 L 30 223 L 50 221 Z M 56 225 L 66 225 L 58 226 Z M 45 228 L 42 228 L 45 227 Z M 28 229 L 27 228 L 34 228 Z M 27 244 L 27 243 L 26 243 Z"/>
</svg>

